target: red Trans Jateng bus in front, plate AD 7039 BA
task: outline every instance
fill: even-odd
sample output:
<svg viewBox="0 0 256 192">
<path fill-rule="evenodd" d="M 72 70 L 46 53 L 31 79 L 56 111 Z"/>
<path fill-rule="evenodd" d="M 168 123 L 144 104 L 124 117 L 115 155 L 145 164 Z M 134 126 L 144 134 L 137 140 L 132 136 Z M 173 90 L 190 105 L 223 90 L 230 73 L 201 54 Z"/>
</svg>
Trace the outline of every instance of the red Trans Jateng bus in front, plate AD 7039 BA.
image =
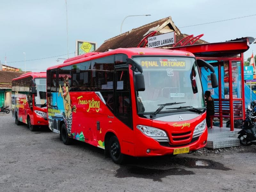
<svg viewBox="0 0 256 192">
<path fill-rule="evenodd" d="M 49 127 L 64 144 L 99 148 L 120 164 L 124 155 L 188 153 L 206 145 L 206 109 L 192 53 L 119 48 L 70 58 L 47 69 Z M 212 86 L 216 75 L 212 73 Z"/>
</svg>

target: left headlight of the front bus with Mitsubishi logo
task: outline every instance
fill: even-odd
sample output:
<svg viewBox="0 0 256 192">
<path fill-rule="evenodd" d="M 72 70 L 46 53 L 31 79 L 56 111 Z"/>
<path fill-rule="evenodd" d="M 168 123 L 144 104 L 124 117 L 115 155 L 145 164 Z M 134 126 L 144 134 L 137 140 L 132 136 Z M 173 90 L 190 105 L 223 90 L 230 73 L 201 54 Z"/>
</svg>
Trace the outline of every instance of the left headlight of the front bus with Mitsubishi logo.
<svg viewBox="0 0 256 192">
<path fill-rule="evenodd" d="M 169 142 L 169 138 L 164 130 L 157 129 L 146 125 L 137 125 L 137 128 L 148 137 L 158 142 Z"/>
</svg>

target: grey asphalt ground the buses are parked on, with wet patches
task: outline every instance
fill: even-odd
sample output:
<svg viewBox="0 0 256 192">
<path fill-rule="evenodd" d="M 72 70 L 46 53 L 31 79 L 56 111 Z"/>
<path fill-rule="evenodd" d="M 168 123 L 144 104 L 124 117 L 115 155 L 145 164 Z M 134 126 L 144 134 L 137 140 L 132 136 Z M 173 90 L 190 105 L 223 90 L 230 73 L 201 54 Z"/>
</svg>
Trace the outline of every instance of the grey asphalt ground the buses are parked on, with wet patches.
<svg viewBox="0 0 256 192">
<path fill-rule="evenodd" d="M 0 114 L 0 191 L 256 191 L 256 147 L 241 152 L 130 158 L 117 165 L 100 148 L 66 146 L 48 129 L 30 132 Z"/>
</svg>

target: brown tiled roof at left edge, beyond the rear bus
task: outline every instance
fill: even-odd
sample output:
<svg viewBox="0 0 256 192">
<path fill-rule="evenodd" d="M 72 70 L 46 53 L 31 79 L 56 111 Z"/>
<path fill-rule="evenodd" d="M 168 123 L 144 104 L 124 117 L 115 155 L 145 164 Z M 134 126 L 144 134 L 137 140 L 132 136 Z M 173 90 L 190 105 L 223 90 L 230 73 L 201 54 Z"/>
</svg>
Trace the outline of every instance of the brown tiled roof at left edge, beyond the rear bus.
<svg viewBox="0 0 256 192">
<path fill-rule="evenodd" d="M 23 73 L 21 72 L 0 71 L 0 88 L 12 88 L 12 79 L 19 77 L 22 74 Z"/>
</svg>

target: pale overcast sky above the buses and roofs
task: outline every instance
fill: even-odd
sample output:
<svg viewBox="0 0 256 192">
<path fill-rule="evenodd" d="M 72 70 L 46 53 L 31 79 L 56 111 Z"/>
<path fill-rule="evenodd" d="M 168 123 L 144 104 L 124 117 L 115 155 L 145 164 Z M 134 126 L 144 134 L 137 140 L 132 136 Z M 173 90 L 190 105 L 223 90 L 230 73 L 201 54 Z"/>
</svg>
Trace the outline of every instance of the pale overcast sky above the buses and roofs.
<svg viewBox="0 0 256 192">
<path fill-rule="evenodd" d="M 122 31 L 129 31 L 147 23 L 171 16 L 181 33 L 199 35 L 203 40 L 223 42 L 239 37 L 256 38 L 256 16 L 181 28 L 184 26 L 226 20 L 256 14 L 253 0 L 67 0 L 68 49 L 74 56 L 76 40 L 97 42 L 120 34 L 120 26 L 128 15 Z M 251 44 L 244 58 L 256 54 Z M 0 0 L 0 60 L 25 70 L 46 71 L 67 58 L 67 29 L 65 0 Z M 63 55 L 63 56 L 58 56 Z M 57 56 L 57 57 L 53 57 Z M 50 59 L 33 59 L 53 57 Z M 15 61 L 15 62 L 14 62 Z M 21 61 L 21 62 L 16 62 Z M 63 62 L 60 60 L 59 63 Z"/>
</svg>

